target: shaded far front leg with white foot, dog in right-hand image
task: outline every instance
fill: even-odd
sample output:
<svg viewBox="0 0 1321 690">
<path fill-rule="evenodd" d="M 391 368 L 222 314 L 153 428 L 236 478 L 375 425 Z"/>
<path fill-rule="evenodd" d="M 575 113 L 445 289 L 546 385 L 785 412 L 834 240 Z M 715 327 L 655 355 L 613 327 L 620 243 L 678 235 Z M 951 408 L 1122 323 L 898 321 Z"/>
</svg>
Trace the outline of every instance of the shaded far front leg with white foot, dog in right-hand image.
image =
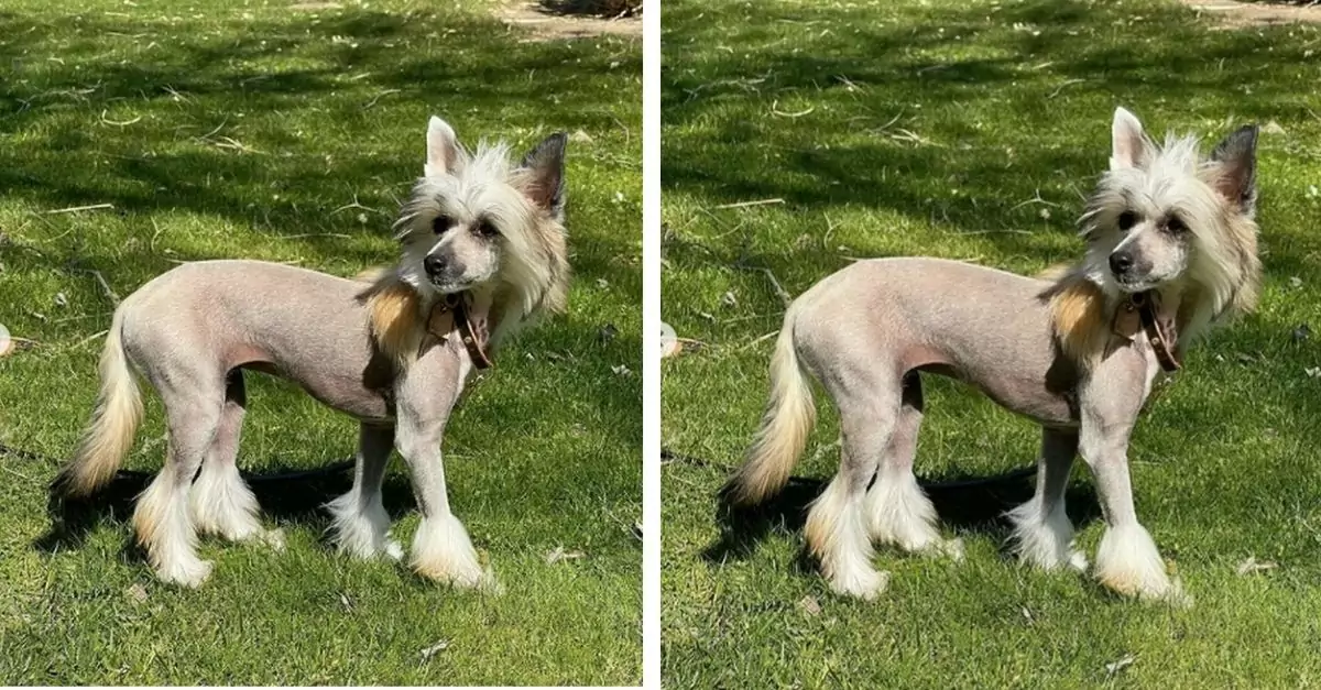
<svg viewBox="0 0 1321 690">
<path fill-rule="evenodd" d="M 1074 549 L 1073 523 L 1065 512 L 1069 469 L 1078 453 L 1078 432 L 1044 428 L 1037 460 L 1037 493 L 1009 512 L 1012 550 L 1025 563 L 1042 570 L 1087 570 L 1087 558 Z"/>
</svg>

